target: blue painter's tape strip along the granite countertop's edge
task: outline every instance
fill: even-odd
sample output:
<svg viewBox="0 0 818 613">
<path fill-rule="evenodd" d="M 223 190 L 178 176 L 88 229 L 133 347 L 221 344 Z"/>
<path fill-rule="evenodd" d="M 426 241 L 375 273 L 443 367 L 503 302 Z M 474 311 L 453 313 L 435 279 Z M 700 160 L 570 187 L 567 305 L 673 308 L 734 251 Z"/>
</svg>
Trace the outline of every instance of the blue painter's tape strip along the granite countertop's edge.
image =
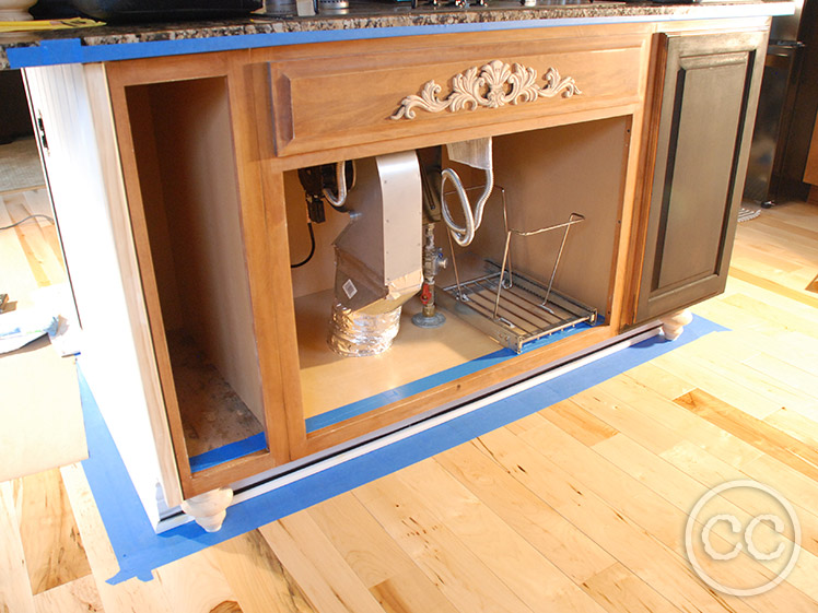
<svg viewBox="0 0 818 613">
<path fill-rule="evenodd" d="M 787 7 L 791 7 L 791 3 L 776 2 L 774 4 L 775 7 L 772 7 L 771 3 L 767 2 L 758 5 L 743 5 L 739 15 L 725 11 L 724 14 L 718 15 L 700 15 L 699 19 L 728 19 L 753 15 L 769 16 L 771 14 L 792 14 L 793 12 L 792 8 L 790 8 L 787 12 Z M 689 14 L 562 17 L 552 20 L 542 19 L 435 25 L 406 25 L 394 27 L 360 27 L 308 32 L 271 32 L 264 34 L 237 34 L 231 36 L 180 38 L 173 40 L 144 40 L 140 43 L 118 43 L 109 45 L 83 45 L 80 38 L 63 38 L 40 40 L 38 45 L 32 47 L 9 47 L 5 52 L 11 68 L 30 68 L 35 66 L 117 61 L 162 56 L 179 56 L 185 54 L 204 54 L 210 51 L 303 45 L 309 43 L 395 38 L 398 36 L 423 36 L 428 34 L 585 26 L 612 23 L 647 23 L 690 19 L 697 17 Z"/>
</svg>

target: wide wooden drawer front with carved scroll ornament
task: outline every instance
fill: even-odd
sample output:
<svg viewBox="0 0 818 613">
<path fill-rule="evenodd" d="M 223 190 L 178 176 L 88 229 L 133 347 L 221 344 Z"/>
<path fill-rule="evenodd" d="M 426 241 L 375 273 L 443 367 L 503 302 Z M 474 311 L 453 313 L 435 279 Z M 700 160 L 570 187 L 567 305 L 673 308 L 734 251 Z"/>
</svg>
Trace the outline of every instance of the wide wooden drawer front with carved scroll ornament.
<svg viewBox="0 0 818 613">
<path fill-rule="evenodd" d="M 500 132 L 511 121 L 636 103 L 645 49 L 642 36 L 560 38 L 271 62 L 276 153 L 481 126 Z"/>
</svg>

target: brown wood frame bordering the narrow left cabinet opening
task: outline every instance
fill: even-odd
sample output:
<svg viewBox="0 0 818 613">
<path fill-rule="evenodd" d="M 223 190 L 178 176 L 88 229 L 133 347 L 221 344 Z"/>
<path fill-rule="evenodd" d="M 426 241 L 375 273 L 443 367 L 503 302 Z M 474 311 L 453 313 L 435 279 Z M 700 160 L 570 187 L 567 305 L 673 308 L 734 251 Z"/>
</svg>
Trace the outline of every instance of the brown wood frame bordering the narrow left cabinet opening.
<svg viewBox="0 0 818 613">
<path fill-rule="evenodd" d="M 285 432 L 284 402 L 281 398 L 283 377 L 281 373 L 276 319 L 278 315 L 268 308 L 268 297 L 276 292 L 269 287 L 270 262 L 274 258 L 277 235 L 276 221 L 268 215 L 265 197 L 258 177 L 257 145 L 253 138 L 252 106 L 248 102 L 244 71 L 244 52 L 218 54 L 207 57 L 173 58 L 170 60 L 136 60 L 116 62 L 107 67 L 107 84 L 114 109 L 114 120 L 121 156 L 122 176 L 128 199 L 128 209 L 133 233 L 137 259 L 140 269 L 142 292 L 145 298 L 148 322 L 152 340 L 153 358 L 159 368 L 159 379 L 164 406 L 151 406 L 152 411 L 164 411 L 173 440 L 176 470 L 184 497 L 208 492 L 219 485 L 245 479 L 289 460 L 288 433 Z M 131 116 L 127 90 L 132 86 L 161 83 L 178 83 L 207 79 L 222 79 L 225 83 L 229 107 L 231 154 L 234 158 L 237 189 L 238 215 L 242 232 L 241 255 L 249 284 L 253 335 L 257 345 L 258 366 L 261 380 L 264 422 L 267 451 L 256 452 L 198 472 L 190 470 L 185 445 L 180 412 L 176 402 L 173 372 L 170 364 L 165 327 L 159 302 L 156 273 L 145 225 L 144 203 L 140 187 L 138 160 L 136 158 Z M 278 232 L 285 232 L 279 225 Z M 284 234 L 285 238 L 285 234 Z M 271 251 L 273 251 L 271 254 Z"/>
</svg>

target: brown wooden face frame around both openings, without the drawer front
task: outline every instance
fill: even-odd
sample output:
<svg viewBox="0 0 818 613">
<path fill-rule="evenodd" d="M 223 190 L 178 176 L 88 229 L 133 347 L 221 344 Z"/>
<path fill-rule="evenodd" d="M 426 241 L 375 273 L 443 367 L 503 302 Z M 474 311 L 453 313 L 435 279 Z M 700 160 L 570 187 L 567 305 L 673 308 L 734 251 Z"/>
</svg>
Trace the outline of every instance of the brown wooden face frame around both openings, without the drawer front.
<svg viewBox="0 0 818 613">
<path fill-rule="evenodd" d="M 759 21 L 755 20 L 752 22 L 756 30 L 758 30 Z M 747 22 L 743 23 L 746 25 Z M 689 27 L 694 26 L 701 27 L 701 24 L 691 24 Z M 274 427 L 268 427 L 269 453 L 239 458 L 194 474 L 189 472 L 184 449 L 179 451 L 177 445 L 176 461 L 184 496 L 189 497 L 242 479 L 252 478 L 290 460 L 324 451 L 329 447 L 357 437 L 370 435 L 378 428 L 416 416 L 430 406 L 453 405 L 468 394 L 477 393 L 487 387 L 500 385 L 503 381 L 523 377 L 527 373 L 544 368 L 548 363 L 582 352 L 594 344 L 603 343 L 617 335 L 624 323 L 632 322 L 631 302 L 639 285 L 639 269 L 635 267 L 642 263 L 641 246 L 644 245 L 644 228 L 648 207 L 648 202 L 642 201 L 641 196 L 642 184 L 650 182 L 643 176 L 643 161 L 645 155 L 648 155 L 644 149 L 646 146 L 650 149 L 650 141 L 645 140 L 643 134 L 651 130 L 643 128 L 643 120 L 645 104 L 648 105 L 650 109 L 652 103 L 650 99 L 647 103 L 645 101 L 648 97 L 647 93 L 653 91 L 652 81 L 648 80 L 648 76 L 656 79 L 655 73 L 648 73 L 648 69 L 651 58 L 655 63 L 656 57 L 661 57 L 664 52 L 662 49 L 657 51 L 656 47 L 652 48 L 652 42 L 655 43 L 655 38 L 658 36 L 653 35 L 653 32 L 655 32 L 655 26 L 651 24 L 582 28 L 560 27 L 542 31 L 494 32 L 480 35 L 437 35 L 390 40 L 304 45 L 226 51 L 203 56 L 129 60 L 106 64 L 107 86 L 114 108 L 122 175 L 132 210 L 133 208 L 138 210 L 141 207 L 141 193 L 137 160 L 129 133 L 130 120 L 127 113 L 125 89 L 130 85 L 213 76 L 224 78 L 229 83 L 229 104 L 231 107 L 233 145 L 235 148 L 236 180 L 241 200 L 245 258 L 250 283 L 256 342 L 259 347 L 259 367 L 265 381 L 266 421 L 268 425 L 272 424 Z M 545 40 L 542 45 L 551 48 L 558 45 L 560 39 L 571 38 L 572 36 L 601 38 L 610 35 L 620 42 L 627 42 L 629 48 L 639 49 L 639 66 L 635 68 L 635 90 L 627 96 L 608 99 L 607 106 L 589 104 L 566 113 L 549 110 L 542 114 L 521 114 L 517 109 L 500 109 L 501 115 L 498 117 L 502 117 L 502 113 L 505 110 L 512 113 L 504 116 L 503 119 L 498 119 L 499 123 L 486 120 L 488 117 L 486 114 L 491 113 L 491 109 L 480 109 L 477 113 L 482 115 L 474 125 L 469 121 L 455 122 L 449 128 L 434 133 L 425 127 L 413 129 L 407 125 L 389 138 L 378 135 L 341 146 L 336 140 L 332 140 L 336 137 L 327 141 L 322 141 L 320 137 L 316 137 L 317 140 L 314 141 L 316 149 L 314 151 L 309 146 L 305 146 L 297 152 L 288 152 L 288 155 L 283 157 L 277 153 L 281 143 L 276 140 L 277 119 L 272 109 L 279 98 L 274 90 L 271 89 L 271 83 L 274 83 L 276 74 L 279 73 L 276 73 L 274 70 L 271 72 L 270 62 L 279 62 L 277 66 L 281 67 L 304 67 L 306 64 L 303 62 L 309 61 L 311 58 L 323 58 L 327 55 L 344 56 L 346 59 L 354 62 L 357 58 L 365 57 L 371 50 L 417 54 L 419 48 L 433 48 L 439 43 L 451 44 L 451 46 L 459 49 L 474 49 L 476 48 L 475 42 L 483 36 L 491 49 L 501 50 L 507 49 L 506 45 L 509 43 L 514 45 L 513 48 L 522 48 L 526 40 L 530 38 Z M 576 42 L 573 44 L 579 45 Z M 507 54 L 509 57 L 513 56 L 511 51 Z M 479 64 L 480 61 L 475 60 L 467 63 Z M 354 70 L 354 67 L 350 70 Z M 656 70 L 655 66 L 653 70 Z M 577 84 L 582 87 L 581 83 Z M 408 84 L 406 94 L 414 93 L 413 90 L 421 85 L 420 82 Z M 396 106 L 399 102 L 395 101 Z M 293 294 L 290 271 L 287 266 L 289 263 L 289 246 L 283 205 L 283 172 L 341 158 L 379 155 L 392 151 L 440 145 L 445 142 L 484 135 L 538 130 L 610 117 L 629 117 L 632 138 L 630 138 L 629 151 L 624 156 L 622 168 L 624 180 L 622 182 L 621 210 L 617 216 L 619 229 L 617 232 L 616 252 L 610 268 L 608 303 L 610 320 L 608 325 L 591 329 L 580 334 L 579 338 L 570 338 L 552 346 L 524 354 L 482 376 L 466 377 L 417 394 L 407 401 L 396 402 L 382 410 L 307 434 L 301 404 Z M 656 120 L 656 117 L 657 115 L 652 114 L 650 116 L 651 121 Z M 638 190 L 641 203 L 635 207 L 634 200 Z M 632 232 L 634 227 L 636 229 Z M 138 238 L 137 235 L 140 233 L 144 233 L 144 228 L 135 227 L 135 238 Z M 137 246 L 141 275 L 150 278 L 152 264 L 150 262 L 150 250 L 144 244 L 144 236 L 142 236 L 142 241 L 141 246 Z M 147 288 L 145 292 L 150 293 L 150 288 Z M 276 298 L 274 308 L 270 308 L 269 296 Z M 626 303 L 629 305 L 628 309 L 623 308 Z M 149 307 L 149 310 L 152 309 L 154 314 L 160 313 L 157 308 L 154 305 Z M 159 353 L 163 347 L 161 346 L 162 340 L 157 339 L 156 335 L 163 333 L 163 328 L 161 326 L 156 327 L 153 317 L 155 316 L 152 316 L 151 329 L 156 345 L 154 357 L 159 361 Z M 159 330 L 159 332 L 154 330 Z M 180 423 L 178 419 L 172 415 L 173 406 L 168 405 L 167 409 L 165 406 L 153 408 L 153 410 L 163 412 L 167 410 L 172 438 L 175 441 L 184 440 Z M 174 420 L 176 420 L 175 424 Z M 176 467 L 174 467 L 174 470 L 176 470 Z"/>
</svg>

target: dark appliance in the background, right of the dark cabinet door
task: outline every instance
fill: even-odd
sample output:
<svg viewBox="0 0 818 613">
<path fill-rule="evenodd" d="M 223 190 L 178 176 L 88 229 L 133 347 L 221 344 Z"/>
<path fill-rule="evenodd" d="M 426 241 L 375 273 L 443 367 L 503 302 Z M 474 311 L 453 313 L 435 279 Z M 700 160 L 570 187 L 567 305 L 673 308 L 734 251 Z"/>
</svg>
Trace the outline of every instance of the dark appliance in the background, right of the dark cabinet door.
<svg viewBox="0 0 818 613">
<path fill-rule="evenodd" d="M 792 197 L 793 165 L 797 166 L 799 148 L 798 132 L 803 126 L 811 126 L 815 109 L 810 117 L 809 108 L 798 104 L 803 98 L 801 84 L 808 48 L 806 39 L 814 30 L 811 20 L 802 20 L 807 12 L 806 3 L 815 4 L 818 0 L 795 0 L 795 12 L 792 15 L 775 16 L 770 30 L 770 43 L 764 60 L 764 76 L 761 82 L 756 127 L 747 167 L 747 179 L 744 188 L 745 201 L 772 207 L 781 198 Z M 811 127 L 810 127 L 811 130 Z M 807 134 L 807 143 L 809 142 Z M 806 156 L 804 155 L 806 160 Z M 803 165 L 802 170 L 803 174 Z M 797 169 L 795 175 L 799 178 Z M 797 180 L 795 181 L 797 184 Z"/>
</svg>

